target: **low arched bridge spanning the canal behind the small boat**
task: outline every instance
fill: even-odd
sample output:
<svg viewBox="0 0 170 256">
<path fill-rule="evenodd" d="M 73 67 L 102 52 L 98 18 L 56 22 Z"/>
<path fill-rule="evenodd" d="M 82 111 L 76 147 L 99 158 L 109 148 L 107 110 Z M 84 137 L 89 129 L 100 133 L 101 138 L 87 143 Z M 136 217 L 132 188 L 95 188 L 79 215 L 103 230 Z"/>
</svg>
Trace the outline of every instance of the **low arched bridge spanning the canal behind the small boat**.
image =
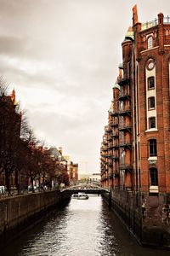
<svg viewBox="0 0 170 256">
<path fill-rule="evenodd" d="M 109 189 L 104 189 L 95 183 L 79 183 L 66 189 L 61 189 L 61 192 L 66 190 L 70 191 L 71 194 L 77 194 L 78 192 L 84 192 L 86 194 L 103 194 L 105 192 L 109 193 Z"/>
</svg>

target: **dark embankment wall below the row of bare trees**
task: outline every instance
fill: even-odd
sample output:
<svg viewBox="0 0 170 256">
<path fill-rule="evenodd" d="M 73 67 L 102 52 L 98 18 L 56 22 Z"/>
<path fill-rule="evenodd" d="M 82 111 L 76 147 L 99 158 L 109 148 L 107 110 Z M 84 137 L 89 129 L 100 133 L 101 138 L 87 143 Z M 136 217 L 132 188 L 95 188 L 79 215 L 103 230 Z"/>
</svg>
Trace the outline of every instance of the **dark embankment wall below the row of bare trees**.
<svg viewBox="0 0 170 256">
<path fill-rule="evenodd" d="M 51 190 L 0 200 L 0 247 L 20 236 L 56 205 L 69 199 L 66 191 Z"/>
</svg>

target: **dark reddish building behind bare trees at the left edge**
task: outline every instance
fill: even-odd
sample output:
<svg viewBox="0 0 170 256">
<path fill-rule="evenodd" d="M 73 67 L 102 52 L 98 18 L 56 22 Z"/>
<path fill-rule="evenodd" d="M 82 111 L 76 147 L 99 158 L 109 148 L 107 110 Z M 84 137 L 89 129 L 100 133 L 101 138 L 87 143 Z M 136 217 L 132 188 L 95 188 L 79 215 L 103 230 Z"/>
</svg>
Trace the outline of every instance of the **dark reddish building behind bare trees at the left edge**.
<svg viewBox="0 0 170 256">
<path fill-rule="evenodd" d="M 21 114 L 16 107 L 14 90 L 11 96 L 0 96 L 0 185 L 11 187 L 15 186 L 13 167 L 20 143 Z M 18 178 L 23 181 L 21 173 Z"/>
</svg>

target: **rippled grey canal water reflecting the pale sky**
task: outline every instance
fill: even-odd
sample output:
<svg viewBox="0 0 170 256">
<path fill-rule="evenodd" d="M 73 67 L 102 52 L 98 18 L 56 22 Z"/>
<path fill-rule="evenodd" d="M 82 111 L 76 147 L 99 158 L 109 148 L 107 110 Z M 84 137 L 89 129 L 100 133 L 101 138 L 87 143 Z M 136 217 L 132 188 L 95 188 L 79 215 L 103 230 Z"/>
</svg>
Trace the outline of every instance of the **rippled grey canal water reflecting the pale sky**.
<svg viewBox="0 0 170 256">
<path fill-rule="evenodd" d="M 101 196 L 72 199 L 1 251 L 2 256 L 164 256 L 140 247 Z"/>
</svg>

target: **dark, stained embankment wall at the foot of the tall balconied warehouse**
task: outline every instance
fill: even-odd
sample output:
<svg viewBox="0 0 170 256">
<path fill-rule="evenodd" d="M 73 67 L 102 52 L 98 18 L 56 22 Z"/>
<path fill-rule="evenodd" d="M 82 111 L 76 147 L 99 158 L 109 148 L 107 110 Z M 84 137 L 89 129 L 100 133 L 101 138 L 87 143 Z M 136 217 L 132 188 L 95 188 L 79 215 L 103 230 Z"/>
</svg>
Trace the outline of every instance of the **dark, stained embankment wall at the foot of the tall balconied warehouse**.
<svg viewBox="0 0 170 256">
<path fill-rule="evenodd" d="M 159 221 L 153 224 L 151 218 L 146 220 L 142 212 L 114 195 L 105 193 L 104 198 L 139 243 L 144 246 L 170 248 L 170 223 L 163 224 Z"/>
</svg>

